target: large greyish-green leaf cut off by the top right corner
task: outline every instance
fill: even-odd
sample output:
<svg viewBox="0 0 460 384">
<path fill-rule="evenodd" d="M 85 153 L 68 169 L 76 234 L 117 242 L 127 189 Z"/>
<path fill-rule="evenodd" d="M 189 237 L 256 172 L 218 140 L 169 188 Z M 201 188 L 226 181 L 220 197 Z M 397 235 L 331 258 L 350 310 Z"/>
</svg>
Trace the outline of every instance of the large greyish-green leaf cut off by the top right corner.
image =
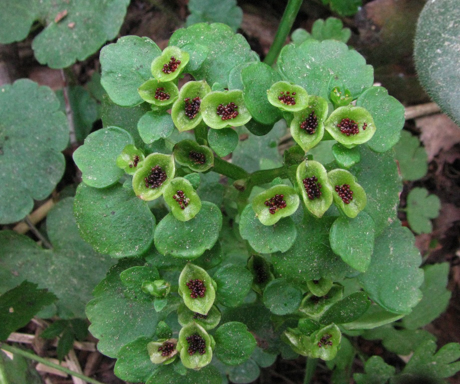
<svg viewBox="0 0 460 384">
<path fill-rule="evenodd" d="M 420 83 L 456 124 L 460 124 L 458 43 L 460 9 L 455 0 L 429 1 L 415 33 L 414 58 Z"/>
</svg>

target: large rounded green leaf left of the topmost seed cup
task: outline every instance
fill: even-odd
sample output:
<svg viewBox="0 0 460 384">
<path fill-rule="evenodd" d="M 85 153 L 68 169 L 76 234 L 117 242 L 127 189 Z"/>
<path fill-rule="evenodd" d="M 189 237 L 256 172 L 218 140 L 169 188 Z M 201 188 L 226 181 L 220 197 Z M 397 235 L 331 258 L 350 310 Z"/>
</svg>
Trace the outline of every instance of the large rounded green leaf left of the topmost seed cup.
<svg viewBox="0 0 460 384">
<path fill-rule="evenodd" d="M 134 106 L 143 102 L 138 87 L 152 77 L 150 64 L 161 54 L 148 37 L 124 36 L 101 49 L 101 84 L 113 102 Z"/>
</svg>

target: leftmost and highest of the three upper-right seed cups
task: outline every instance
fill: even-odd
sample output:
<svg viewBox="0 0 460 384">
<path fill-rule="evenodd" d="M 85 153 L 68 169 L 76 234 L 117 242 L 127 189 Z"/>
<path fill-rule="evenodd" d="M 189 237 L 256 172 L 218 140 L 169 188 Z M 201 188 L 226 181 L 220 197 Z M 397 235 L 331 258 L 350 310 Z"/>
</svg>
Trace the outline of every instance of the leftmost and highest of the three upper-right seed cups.
<svg viewBox="0 0 460 384">
<path fill-rule="evenodd" d="M 308 106 L 308 93 L 300 85 L 288 81 L 277 81 L 267 91 L 270 104 L 285 110 L 295 112 Z"/>
</svg>

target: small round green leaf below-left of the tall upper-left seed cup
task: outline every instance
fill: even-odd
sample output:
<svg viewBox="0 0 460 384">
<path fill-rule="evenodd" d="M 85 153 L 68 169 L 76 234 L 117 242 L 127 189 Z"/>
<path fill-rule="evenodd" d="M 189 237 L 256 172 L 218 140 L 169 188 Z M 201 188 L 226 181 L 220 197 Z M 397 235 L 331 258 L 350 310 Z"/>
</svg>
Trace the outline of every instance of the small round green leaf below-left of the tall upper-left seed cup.
<svg viewBox="0 0 460 384">
<path fill-rule="evenodd" d="M 150 111 L 140 118 L 137 129 L 144 142 L 150 144 L 169 137 L 173 133 L 174 123 L 168 112 Z"/>
</svg>

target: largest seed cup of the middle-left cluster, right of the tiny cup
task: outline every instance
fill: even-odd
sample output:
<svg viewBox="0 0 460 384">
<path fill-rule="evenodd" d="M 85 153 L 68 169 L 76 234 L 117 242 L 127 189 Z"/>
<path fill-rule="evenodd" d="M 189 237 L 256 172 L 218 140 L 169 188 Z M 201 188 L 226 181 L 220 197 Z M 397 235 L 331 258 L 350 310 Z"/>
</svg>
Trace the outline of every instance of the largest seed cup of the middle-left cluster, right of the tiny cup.
<svg viewBox="0 0 460 384">
<path fill-rule="evenodd" d="M 133 176 L 133 189 L 143 200 L 160 197 L 176 171 L 174 157 L 170 154 L 149 154 Z"/>
</svg>

